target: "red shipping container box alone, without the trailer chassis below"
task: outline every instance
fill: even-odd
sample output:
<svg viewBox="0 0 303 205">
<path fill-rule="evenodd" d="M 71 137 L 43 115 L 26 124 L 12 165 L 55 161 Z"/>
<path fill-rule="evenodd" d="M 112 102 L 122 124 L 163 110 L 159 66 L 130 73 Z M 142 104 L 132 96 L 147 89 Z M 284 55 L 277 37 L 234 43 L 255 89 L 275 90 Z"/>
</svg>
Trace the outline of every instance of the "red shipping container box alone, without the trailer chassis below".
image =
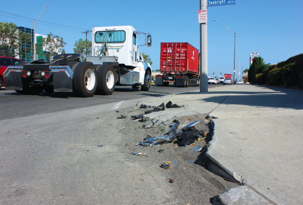
<svg viewBox="0 0 303 205">
<path fill-rule="evenodd" d="M 160 72 L 199 73 L 199 50 L 189 43 L 161 43 Z"/>
</svg>

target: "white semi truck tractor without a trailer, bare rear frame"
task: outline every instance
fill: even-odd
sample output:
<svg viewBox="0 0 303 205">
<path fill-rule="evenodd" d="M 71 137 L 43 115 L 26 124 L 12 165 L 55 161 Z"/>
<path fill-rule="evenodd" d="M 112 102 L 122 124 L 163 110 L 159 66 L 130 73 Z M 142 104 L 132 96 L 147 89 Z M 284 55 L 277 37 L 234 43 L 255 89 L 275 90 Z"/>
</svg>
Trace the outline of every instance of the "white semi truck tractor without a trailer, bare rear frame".
<svg viewBox="0 0 303 205">
<path fill-rule="evenodd" d="M 138 36 L 142 35 L 141 45 Z M 56 55 L 52 62 L 38 59 L 9 66 L 4 72 L 5 88 L 20 94 L 73 92 L 91 97 L 97 91 L 110 95 L 115 85 L 141 86 L 148 91 L 151 65 L 145 62 L 140 46 L 151 46 L 151 35 L 132 26 L 92 28 L 92 56 L 81 62 L 79 54 Z"/>
</svg>

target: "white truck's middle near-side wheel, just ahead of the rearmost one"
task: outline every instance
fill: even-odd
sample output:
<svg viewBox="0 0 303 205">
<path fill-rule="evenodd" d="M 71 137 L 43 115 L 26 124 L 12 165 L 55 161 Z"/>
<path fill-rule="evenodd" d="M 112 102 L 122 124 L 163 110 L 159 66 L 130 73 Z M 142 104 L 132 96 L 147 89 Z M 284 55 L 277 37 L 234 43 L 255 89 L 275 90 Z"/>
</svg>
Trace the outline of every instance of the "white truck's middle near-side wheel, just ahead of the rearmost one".
<svg viewBox="0 0 303 205">
<path fill-rule="evenodd" d="M 112 65 L 101 65 L 98 71 L 98 91 L 102 95 L 111 95 L 115 90 L 116 74 Z"/>
</svg>

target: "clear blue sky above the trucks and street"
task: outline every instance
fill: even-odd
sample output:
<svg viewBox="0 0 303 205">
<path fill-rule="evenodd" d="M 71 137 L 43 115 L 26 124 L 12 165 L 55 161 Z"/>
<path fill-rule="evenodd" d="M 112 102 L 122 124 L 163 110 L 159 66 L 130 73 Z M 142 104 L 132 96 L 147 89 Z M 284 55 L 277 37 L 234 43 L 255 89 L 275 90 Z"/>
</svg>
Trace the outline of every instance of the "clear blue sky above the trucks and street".
<svg viewBox="0 0 303 205">
<path fill-rule="evenodd" d="M 48 0 L 3 1 L 0 11 L 35 19 L 47 3 Z M 156 70 L 159 69 L 161 42 L 189 42 L 200 48 L 199 4 L 199 0 L 51 0 L 40 21 L 76 28 L 69 27 L 74 29 L 69 30 L 38 22 L 36 33 L 52 32 L 63 37 L 66 52 L 73 53 L 75 41 L 85 39 L 85 34 L 81 33 L 85 29 L 91 30 L 94 25 L 132 25 L 137 31 L 151 33 L 152 47 L 139 49 L 150 55 L 152 70 Z M 260 52 L 265 63 L 278 63 L 303 53 L 302 8 L 302 0 L 236 0 L 235 5 L 208 7 L 208 73 L 232 74 L 234 67 L 234 37 L 214 19 L 236 31 L 236 57 L 240 59 L 241 73 L 242 67 L 243 70 L 249 68 L 250 52 Z M 33 20 L 2 12 L 0 21 L 33 28 Z M 91 40 L 92 35 L 89 37 Z"/>
</svg>

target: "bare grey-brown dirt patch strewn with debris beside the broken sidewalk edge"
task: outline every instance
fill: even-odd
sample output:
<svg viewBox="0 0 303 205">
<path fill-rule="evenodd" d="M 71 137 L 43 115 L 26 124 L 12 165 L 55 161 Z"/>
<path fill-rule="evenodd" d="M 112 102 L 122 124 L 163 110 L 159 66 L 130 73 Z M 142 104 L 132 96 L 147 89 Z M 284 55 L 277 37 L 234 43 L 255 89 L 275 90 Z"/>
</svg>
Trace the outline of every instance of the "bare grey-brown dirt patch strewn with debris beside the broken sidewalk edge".
<svg viewBox="0 0 303 205">
<path fill-rule="evenodd" d="M 140 145 L 136 144 L 144 141 L 145 137 L 148 135 L 158 137 L 164 135 L 170 129 L 171 124 L 148 129 L 142 128 L 145 122 L 130 118 L 131 115 L 144 114 L 145 111 L 150 109 L 135 107 L 132 110 L 122 110 L 117 113 L 127 116 L 125 119 L 117 119 L 121 121 L 120 132 L 125 136 L 121 148 L 129 154 L 127 155 L 128 160 L 140 162 L 146 170 L 156 172 L 160 176 L 155 181 L 161 187 L 165 187 L 172 199 L 172 201 L 165 203 L 211 204 L 212 197 L 232 187 L 238 187 L 238 184 L 226 181 L 207 169 L 204 156 L 212 134 L 211 118 L 206 119 L 207 113 L 176 118 L 180 122 L 177 131 L 187 124 L 200 120 L 198 124 L 195 124 L 195 128 L 201 133 L 205 132 L 205 139 L 195 141 L 190 146 L 181 146 L 180 142 L 176 140 L 171 143 L 160 143 L 140 149 Z M 201 136 L 201 138 L 204 138 L 204 136 Z M 200 146 L 202 149 L 194 151 L 196 146 Z M 140 152 L 146 156 L 132 154 Z M 169 164 L 168 169 L 161 168 L 161 164 L 164 164 L 164 162 L 170 162 L 167 163 Z M 141 180 L 144 180 L 144 173 L 140 177 Z"/>
</svg>

